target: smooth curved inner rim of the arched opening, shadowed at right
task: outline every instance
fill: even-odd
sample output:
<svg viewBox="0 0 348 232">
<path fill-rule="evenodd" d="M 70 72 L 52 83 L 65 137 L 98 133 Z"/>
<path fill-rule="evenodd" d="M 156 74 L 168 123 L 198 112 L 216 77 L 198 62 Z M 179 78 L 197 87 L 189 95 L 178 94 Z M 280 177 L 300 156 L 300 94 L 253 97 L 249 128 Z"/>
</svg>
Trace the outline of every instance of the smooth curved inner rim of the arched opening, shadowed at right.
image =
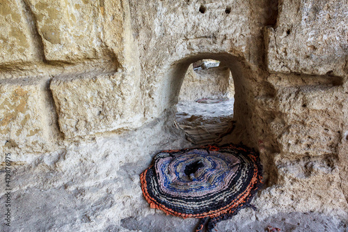
<svg viewBox="0 0 348 232">
<path fill-rule="evenodd" d="M 248 109 L 248 102 L 250 99 L 248 99 L 247 91 L 250 91 L 248 89 L 248 79 L 253 78 L 253 74 L 243 59 L 237 56 L 233 56 L 229 53 L 195 54 L 172 63 L 168 66 L 168 72 L 165 75 L 166 78 L 163 79 L 161 84 L 163 88 L 161 88 L 161 97 L 159 98 L 158 107 L 163 110 L 174 109 L 173 111 L 176 111 L 177 103 L 180 102 L 180 90 L 184 87 L 183 82 L 187 72 L 190 72 L 190 65 L 204 59 L 220 61 L 220 63 L 225 65 L 232 74 L 233 86 L 235 88 L 235 102 L 232 104 L 233 106 L 231 105 L 228 111 L 232 111 L 232 121 L 234 121 L 234 123 L 231 125 L 232 131 L 229 131 L 231 136 L 229 136 L 227 141 L 223 139 L 223 142 L 243 142 L 244 144 L 250 144 L 250 141 L 244 140 L 250 135 L 248 128 L 251 123 L 249 122 L 251 119 L 251 110 Z M 173 115 L 171 120 L 175 122 L 175 115 Z M 212 143 L 214 143 L 214 141 L 207 142 L 206 144 Z"/>
</svg>

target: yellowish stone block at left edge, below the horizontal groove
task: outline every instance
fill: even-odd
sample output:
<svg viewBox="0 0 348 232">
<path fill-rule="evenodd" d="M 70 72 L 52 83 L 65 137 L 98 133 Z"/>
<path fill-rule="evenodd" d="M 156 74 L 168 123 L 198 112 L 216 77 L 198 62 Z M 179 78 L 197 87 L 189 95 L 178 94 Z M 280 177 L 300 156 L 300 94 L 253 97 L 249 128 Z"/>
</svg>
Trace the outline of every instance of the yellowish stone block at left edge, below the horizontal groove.
<svg viewBox="0 0 348 232">
<path fill-rule="evenodd" d="M 1 146 L 45 152 L 51 147 L 42 90 L 29 80 L 0 82 Z"/>
</svg>

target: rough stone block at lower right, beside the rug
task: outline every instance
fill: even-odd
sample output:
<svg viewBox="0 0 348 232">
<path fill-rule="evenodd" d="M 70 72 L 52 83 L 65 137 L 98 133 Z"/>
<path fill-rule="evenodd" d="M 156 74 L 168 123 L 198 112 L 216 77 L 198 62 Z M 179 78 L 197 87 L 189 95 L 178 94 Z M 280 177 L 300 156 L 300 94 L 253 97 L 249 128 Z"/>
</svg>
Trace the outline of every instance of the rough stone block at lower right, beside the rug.
<svg viewBox="0 0 348 232">
<path fill-rule="evenodd" d="M 335 155 L 305 156 L 289 159 L 275 156 L 278 183 L 260 192 L 255 199 L 261 215 L 274 209 L 283 212 L 324 212 L 347 219 L 347 201 L 340 188 L 338 160 Z"/>
</svg>

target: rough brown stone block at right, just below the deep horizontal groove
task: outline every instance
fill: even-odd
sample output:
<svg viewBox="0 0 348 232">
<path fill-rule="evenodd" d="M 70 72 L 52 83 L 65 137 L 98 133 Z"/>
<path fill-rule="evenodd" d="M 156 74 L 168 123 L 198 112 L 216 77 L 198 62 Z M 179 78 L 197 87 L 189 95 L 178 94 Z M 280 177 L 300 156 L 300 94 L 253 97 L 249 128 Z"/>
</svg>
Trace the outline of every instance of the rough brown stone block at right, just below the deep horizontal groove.
<svg viewBox="0 0 348 232">
<path fill-rule="evenodd" d="M 271 127 L 284 153 L 336 153 L 345 121 L 340 87 L 287 87 L 278 89 L 277 95 L 281 114 Z"/>
</svg>

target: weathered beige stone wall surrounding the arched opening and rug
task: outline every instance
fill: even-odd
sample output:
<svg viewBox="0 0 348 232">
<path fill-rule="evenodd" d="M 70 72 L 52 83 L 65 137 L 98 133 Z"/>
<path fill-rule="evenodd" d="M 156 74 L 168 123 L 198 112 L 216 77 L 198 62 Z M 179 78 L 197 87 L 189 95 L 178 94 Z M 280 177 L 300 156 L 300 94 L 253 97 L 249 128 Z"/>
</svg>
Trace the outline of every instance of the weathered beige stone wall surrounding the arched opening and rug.
<svg viewBox="0 0 348 232">
<path fill-rule="evenodd" d="M 233 77 L 236 127 L 222 143 L 255 148 L 264 166 L 259 210 L 236 222 L 315 211 L 345 229 L 347 1 L 0 6 L 1 154 L 13 159 L 23 219 L 15 230 L 44 220 L 39 230 L 127 231 L 121 219 L 154 213 L 138 175 L 156 151 L 192 146 L 173 112 L 189 65 L 202 59 L 221 61 Z M 26 203 L 36 207 L 37 197 L 51 214 L 31 216 Z M 62 214 L 71 217 L 50 216 Z"/>
</svg>

